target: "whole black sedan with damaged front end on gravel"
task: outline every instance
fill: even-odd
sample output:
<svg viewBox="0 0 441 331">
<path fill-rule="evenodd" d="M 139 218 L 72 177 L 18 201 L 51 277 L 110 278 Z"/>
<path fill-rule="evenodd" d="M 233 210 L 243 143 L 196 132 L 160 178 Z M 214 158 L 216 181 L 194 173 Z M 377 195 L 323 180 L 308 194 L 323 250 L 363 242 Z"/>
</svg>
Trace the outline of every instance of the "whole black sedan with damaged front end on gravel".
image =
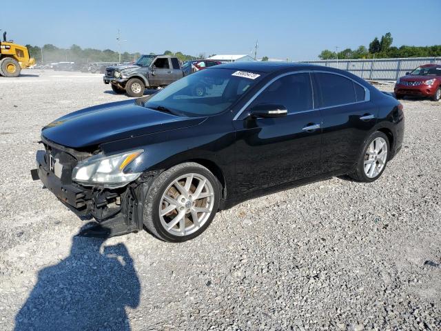
<svg viewBox="0 0 441 331">
<path fill-rule="evenodd" d="M 98 223 L 83 236 L 145 226 L 185 241 L 252 197 L 342 174 L 375 181 L 403 135 L 402 105 L 353 74 L 231 63 L 48 124 L 32 175 L 92 214 Z"/>
</svg>

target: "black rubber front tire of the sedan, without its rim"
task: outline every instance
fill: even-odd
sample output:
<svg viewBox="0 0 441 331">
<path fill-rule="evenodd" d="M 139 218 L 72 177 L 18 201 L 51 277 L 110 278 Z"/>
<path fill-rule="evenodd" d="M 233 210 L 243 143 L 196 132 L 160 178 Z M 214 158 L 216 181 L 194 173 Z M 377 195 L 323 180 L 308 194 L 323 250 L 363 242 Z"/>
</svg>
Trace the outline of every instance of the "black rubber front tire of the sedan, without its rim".
<svg viewBox="0 0 441 331">
<path fill-rule="evenodd" d="M 176 236 L 170 232 L 168 232 L 161 223 L 161 219 L 159 216 L 159 205 L 161 203 L 161 199 L 163 197 L 163 193 L 169 185 L 173 183 L 179 177 L 182 177 L 185 174 L 200 174 L 209 181 L 214 190 L 213 197 L 213 208 L 209 217 L 203 223 L 201 228 L 196 230 L 191 234 Z M 202 165 L 194 162 L 187 162 L 175 165 L 174 167 L 165 170 L 162 172 L 152 183 L 149 192 L 147 193 L 147 197 L 145 198 L 144 210 L 143 210 L 143 223 L 147 230 L 153 234 L 156 238 L 161 239 L 163 241 L 168 242 L 183 242 L 189 239 L 194 239 L 199 234 L 204 232 L 209 224 L 214 219 L 214 215 L 216 214 L 219 206 L 219 197 L 220 197 L 220 183 L 216 177 L 210 172 L 207 168 Z"/>
</svg>

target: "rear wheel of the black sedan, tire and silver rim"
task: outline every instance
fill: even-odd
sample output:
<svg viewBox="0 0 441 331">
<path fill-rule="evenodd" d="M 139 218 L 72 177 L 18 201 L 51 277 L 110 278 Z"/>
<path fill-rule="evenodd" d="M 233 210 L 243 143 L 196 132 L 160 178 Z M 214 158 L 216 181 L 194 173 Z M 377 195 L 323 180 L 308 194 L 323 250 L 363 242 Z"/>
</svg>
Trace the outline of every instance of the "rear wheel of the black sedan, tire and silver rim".
<svg viewBox="0 0 441 331">
<path fill-rule="evenodd" d="M 356 171 L 349 176 L 356 181 L 376 181 L 386 168 L 388 157 L 389 139 L 383 132 L 374 132 L 363 146 Z"/>
</svg>

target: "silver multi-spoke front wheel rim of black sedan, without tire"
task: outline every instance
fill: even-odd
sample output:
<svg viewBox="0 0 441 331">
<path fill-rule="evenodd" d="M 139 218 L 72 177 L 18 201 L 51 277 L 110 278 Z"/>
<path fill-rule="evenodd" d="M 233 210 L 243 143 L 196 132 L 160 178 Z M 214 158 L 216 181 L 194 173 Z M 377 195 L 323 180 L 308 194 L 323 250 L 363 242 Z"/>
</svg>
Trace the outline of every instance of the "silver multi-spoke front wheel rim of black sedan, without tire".
<svg viewBox="0 0 441 331">
<path fill-rule="evenodd" d="M 183 237 L 203 227 L 213 206 L 212 183 L 202 174 L 185 174 L 167 186 L 159 203 L 159 219 L 165 231 Z"/>
</svg>

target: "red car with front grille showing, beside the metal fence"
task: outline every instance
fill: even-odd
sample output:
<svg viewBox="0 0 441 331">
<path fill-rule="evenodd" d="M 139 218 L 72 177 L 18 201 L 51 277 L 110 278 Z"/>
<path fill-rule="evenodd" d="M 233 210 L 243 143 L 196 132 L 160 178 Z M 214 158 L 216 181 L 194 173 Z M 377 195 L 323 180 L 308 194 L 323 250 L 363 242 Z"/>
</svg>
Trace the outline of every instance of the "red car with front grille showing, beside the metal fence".
<svg viewBox="0 0 441 331">
<path fill-rule="evenodd" d="M 441 99 L 441 65 L 424 64 L 407 72 L 395 84 L 395 96 L 400 99 L 406 95 L 431 97 L 433 101 Z"/>
</svg>

